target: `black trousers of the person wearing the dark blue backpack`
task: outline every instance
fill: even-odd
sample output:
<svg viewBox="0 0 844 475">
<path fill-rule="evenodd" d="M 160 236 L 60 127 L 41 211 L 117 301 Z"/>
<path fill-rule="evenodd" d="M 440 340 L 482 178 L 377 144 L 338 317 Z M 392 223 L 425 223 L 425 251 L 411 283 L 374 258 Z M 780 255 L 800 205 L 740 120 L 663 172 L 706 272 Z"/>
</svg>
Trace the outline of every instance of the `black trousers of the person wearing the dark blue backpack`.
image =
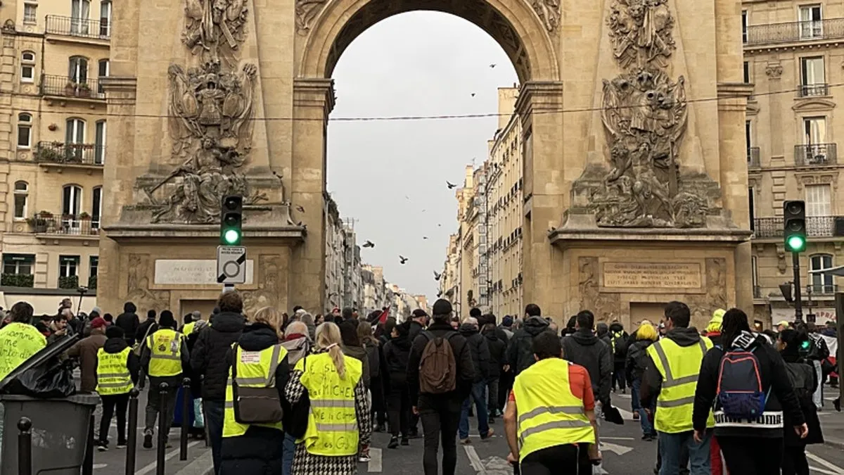
<svg viewBox="0 0 844 475">
<path fill-rule="evenodd" d="M 721 453 L 730 473 L 780 475 L 782 439 L 719 435 L 718 445 L 721 445 Z"/>
</svg>

